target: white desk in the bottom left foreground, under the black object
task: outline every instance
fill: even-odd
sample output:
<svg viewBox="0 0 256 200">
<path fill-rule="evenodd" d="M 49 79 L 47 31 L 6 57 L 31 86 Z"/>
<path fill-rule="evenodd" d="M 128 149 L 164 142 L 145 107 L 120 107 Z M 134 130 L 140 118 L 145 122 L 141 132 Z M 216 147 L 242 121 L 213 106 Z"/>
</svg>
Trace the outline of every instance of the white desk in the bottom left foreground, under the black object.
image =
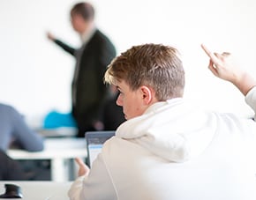
<svg viewBox="0 0 256 200">
<path fill-rule="evenodd" d="M 68 190 L 72 182 L 54 181 L 0 181 L 0 194 L 5 193 L 4 184 L 15 184 L 21 188 L 23 200 L 69 200 Z M 17 198 L 9 198 L 15 199 Z"/>
</svg>

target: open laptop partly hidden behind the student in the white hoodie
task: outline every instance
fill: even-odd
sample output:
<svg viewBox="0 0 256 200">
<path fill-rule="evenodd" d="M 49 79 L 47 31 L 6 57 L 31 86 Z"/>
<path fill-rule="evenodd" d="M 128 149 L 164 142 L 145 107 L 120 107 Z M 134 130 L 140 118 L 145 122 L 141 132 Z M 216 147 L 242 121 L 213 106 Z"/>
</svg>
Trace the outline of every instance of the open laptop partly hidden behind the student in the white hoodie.
<svg viewBox="0 0 256 200">
<path fill-rule="evenodd" d="M 92 167 L 94 159 L 102 152 L 103 144 L 110 138 L 115 136 L 115 130 L 105 131 L 87 131 L 87 165 Z"/>
</svg>

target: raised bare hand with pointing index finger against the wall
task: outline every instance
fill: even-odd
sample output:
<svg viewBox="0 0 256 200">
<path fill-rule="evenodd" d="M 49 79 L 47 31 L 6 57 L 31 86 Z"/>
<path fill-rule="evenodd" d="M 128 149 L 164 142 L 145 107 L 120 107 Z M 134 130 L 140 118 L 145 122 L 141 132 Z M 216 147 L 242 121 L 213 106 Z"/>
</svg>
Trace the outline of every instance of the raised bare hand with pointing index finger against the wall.
<svg viewBox="0 0 256 200">
<path fill-rule="evenodd" d="M 209 56 L 210 61 L 208 68 L 216 77 L 230 81 L 233 85 L 236 85 L 244 95 L 256 85 L 256 80 L 252 78 L 249 73 L 232 63 L 230 53 L 213 53 L 204 44 L 201 45 L 201 48 L 203 48 L 207 56 Z"/>
</svg>

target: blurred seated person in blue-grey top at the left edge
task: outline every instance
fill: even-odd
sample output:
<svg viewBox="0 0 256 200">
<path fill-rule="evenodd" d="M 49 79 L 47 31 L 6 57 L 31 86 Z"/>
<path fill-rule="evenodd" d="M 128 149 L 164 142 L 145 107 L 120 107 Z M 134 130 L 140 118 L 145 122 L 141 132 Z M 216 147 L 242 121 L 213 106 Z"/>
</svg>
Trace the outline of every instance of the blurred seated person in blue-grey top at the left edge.
<svg viewBox="0 0 256 200">
<path fill-rule="evenodd" d="M 0 104 L 0 149 L 10 147 L 39 152 L 43 150 L 43 138 L 27 126 L 14 107 Z"/>
</svg>

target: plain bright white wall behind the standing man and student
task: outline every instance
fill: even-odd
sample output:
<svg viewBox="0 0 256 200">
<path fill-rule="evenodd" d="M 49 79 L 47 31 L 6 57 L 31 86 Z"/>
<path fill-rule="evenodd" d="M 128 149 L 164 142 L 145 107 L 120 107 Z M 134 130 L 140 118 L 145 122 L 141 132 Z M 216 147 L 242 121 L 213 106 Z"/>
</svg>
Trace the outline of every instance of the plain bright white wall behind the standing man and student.
<svg viewBox="0 0 256 200">
<path fill-rule="evenodd" d="M 72 0 L 0 1 L 0 101 L 26 116 L 70 110 L 74 60 L 46 32 L 79 45 L 69 21 Z M 254 0 L 94 0 L 96 21 L 118 53 L 132 45 L 173 45 L 184 56 L 185 97 L 207 109 L 251 115 L 244 97 L 207 70 L 203 42 L 230 51 L 256 77 Z"/>
</svg>

